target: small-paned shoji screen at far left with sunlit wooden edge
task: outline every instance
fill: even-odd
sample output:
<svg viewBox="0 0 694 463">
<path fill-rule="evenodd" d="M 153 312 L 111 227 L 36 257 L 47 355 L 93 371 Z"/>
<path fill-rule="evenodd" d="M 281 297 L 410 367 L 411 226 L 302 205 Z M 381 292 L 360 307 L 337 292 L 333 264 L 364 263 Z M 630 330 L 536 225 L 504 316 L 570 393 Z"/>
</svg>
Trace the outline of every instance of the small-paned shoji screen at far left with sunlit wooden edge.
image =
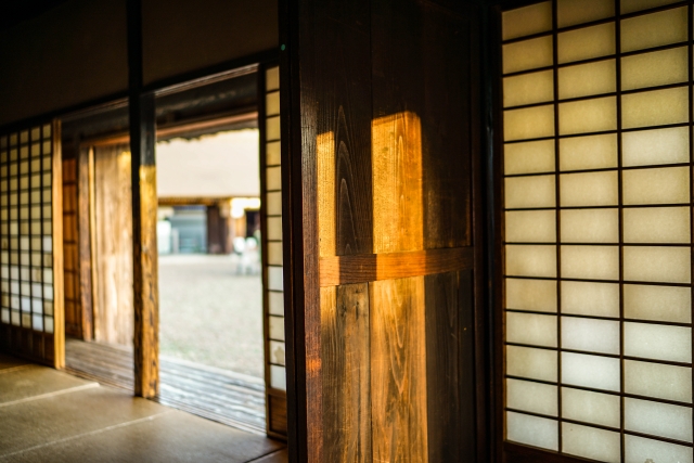
<svg viewBox="0 0 694 463">
<path fill-rule="evenodd" d="M 0 347 L 63 364 L 60 125 L 0 136 Z"/>
</svg>

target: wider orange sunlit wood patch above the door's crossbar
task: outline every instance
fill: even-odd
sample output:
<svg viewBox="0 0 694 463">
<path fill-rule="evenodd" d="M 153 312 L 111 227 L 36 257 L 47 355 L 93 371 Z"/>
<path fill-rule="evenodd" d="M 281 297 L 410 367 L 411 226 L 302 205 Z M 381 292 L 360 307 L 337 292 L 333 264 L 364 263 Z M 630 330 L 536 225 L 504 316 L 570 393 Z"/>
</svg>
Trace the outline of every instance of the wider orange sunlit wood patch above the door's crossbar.
<svg viewBox="0 0 694 463">
<path fill-rule="evenodd" d="M 375 254 L 424 248 L 422 126 L 401 112 L 372 123 Z"/>
</svg>

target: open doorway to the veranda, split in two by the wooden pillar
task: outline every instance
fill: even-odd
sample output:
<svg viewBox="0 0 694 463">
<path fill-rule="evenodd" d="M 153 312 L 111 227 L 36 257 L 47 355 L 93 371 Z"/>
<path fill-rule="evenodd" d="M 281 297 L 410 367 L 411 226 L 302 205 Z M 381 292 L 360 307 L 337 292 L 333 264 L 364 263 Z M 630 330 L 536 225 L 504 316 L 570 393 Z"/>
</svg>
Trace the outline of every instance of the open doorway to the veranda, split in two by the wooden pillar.
<svg viewBox="0 0 694 463">
<path fill-rule="evenodd" d="M 283 438 L 277 76 L 249 66 L 155 94 L 155 400 Z M 83 112 L 65 127 L 66 369 L 132 389 L 128 108 Z"/>
</svg>

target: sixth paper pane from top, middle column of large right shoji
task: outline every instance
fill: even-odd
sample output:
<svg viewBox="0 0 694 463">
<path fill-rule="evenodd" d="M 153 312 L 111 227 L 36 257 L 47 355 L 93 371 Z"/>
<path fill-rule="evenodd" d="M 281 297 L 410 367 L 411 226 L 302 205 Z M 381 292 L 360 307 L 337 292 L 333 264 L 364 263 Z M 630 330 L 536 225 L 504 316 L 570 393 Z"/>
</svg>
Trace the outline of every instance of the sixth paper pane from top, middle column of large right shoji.
<svg viewBox="0 0 694 463">
<path fill-rule="evenodd" d="M 619 200 L 617 171 L 562 173 L 560 203 L 562 206 L 613 206 Z"/>
</svg>

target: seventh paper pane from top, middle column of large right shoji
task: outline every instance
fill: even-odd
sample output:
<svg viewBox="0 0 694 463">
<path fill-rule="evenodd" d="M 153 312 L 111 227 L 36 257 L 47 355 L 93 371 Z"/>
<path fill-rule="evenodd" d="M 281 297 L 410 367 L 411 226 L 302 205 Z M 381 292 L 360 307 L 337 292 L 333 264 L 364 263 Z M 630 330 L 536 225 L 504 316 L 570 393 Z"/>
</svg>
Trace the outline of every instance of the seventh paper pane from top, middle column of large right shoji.
<svg viewBox="0 0 694 463">
<path fill-rule="evenodd" d="M 617 243 L 617 209 L 565 209 L 562 215 L 563 243 Z"/>
</svg>

